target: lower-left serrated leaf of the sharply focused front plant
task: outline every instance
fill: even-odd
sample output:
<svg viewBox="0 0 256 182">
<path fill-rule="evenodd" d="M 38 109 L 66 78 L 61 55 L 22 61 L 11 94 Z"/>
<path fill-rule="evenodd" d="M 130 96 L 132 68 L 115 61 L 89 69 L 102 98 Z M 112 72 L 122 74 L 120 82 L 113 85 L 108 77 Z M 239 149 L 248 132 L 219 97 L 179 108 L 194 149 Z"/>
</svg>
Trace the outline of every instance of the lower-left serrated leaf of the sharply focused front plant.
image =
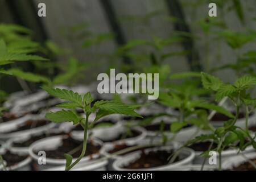
<svg viewBox="0 0 256 182">
<path fill-rule="evenodd" d="M 71 110 L 61 110 L 56 113 L 50 112 L 46 114 L 46 118 L 56 123 L 73 122 L 73 125 L 76 125 L 82 120 L 82 118 Z"/>
</svg>

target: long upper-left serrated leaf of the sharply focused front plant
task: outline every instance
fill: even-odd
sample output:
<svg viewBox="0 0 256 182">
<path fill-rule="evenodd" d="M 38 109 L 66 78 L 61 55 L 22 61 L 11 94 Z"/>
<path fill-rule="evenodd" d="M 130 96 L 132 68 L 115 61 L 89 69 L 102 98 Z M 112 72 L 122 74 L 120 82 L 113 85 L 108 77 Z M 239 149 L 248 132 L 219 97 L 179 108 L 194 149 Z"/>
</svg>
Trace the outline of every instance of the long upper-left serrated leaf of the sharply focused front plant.
<svg viewBox="0 0 256 182">
<path fill-rule="evenodd" d="M 71 101 L 79 105 L 80 107 L 83 106 L 82 104 L 82 96 L 79 93 L 73 92 L 72 90 L 66 89 L 59 89 L 59 88 L 49 88 L 47 86 L 42 87 L 46 92 L 54 97 L 61 98 L 66 101 Z"/>
</svg>

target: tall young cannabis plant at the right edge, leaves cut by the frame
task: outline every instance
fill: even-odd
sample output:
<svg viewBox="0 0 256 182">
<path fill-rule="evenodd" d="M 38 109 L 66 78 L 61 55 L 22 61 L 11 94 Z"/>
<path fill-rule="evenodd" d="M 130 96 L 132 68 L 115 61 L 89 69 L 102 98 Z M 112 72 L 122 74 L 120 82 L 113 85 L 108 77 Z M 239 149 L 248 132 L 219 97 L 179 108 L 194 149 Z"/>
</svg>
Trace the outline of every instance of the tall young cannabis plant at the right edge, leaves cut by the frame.
<svg viewBox="0 0 256 182">
<path fill-rule="evenodd" d="M 228 97 L 236 107 L 236 115 L 230 117 L 231 119 L 226 121 L 224 126 L 218 127 L 212 134 L 201 135 L 192 141 L 192 143 L 203 140 L 213 140 L 216 142 L 217 147 L 214 149 L 209 148 L 203 155 L 208 156 L 210 150 L 217 151 L 219 154 L 219 169 L 221 170 L 221 152 L 226 147 L 236 147 L 239 151 L 245 150 L 248 146 L 256 148 L 256 134 L 252 136 L 248 129 L 249 114 L 256 107 L 256 99 L 251 98 L 248 90 L 256 85 L 256 77 L 246 75 L 238 78 L 234 84 L 226 84 L 217 77 L 201 73 L 201 80 L 204 88 L 216 92 L 215 97 L 217 101 Z M 246 115 L 245 128 L 236 126 L 238 115 L 243 108 Z M 234 145 L 235 143 L 238 143 L 238 145 Z"/>
</svg>

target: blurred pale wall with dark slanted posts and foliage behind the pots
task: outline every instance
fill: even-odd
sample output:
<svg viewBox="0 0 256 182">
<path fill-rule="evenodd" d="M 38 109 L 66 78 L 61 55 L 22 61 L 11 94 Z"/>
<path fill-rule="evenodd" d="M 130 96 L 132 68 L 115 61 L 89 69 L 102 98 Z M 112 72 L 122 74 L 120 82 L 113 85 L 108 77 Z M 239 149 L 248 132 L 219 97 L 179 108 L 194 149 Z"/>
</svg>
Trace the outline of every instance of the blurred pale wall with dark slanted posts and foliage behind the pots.
<svg viewBox="0 0 256 182">
<path fill-rule="evenodd" d="M 46 17 L 38 16 L 40 2 Z M 208 16 L 210 2 L 216 18 Z M 71 84 L 94 82 L 110 68 L 152 72 L 152 65 L 162 74 L 205 71 L 233 81 L 241 61 L 256 57 L 255 9 L 255 0 L 0 0 L 0 23 L 29 28 L 39 55 L 51 60 L 23 63 L 23 70 L 49 77 L 69 71 Z M 4 76 L 0 89 L 22 88 Z"/>
</svg>

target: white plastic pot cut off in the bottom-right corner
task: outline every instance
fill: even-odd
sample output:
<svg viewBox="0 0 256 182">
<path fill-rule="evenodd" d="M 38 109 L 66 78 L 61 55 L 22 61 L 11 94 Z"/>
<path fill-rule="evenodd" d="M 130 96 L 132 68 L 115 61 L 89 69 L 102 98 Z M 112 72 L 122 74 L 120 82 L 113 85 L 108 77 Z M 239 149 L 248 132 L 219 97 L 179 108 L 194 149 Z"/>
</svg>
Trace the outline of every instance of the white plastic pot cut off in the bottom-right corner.
<svg viewBox="0 0 256 182">
<path fill-rule="evenodd" d="M 229 170 L 229 169 L 232 169 L 233 167 L 240 166 L 240 164 L 246 162 L 248 159 L 256 158 L 256 152 L 244 154 L 244 155 L 245 157 L 240 154 L 240 155 L 233 156 L 232 158 L 226 159 L 222 163 L 222 169 Z"/>
</svg>

